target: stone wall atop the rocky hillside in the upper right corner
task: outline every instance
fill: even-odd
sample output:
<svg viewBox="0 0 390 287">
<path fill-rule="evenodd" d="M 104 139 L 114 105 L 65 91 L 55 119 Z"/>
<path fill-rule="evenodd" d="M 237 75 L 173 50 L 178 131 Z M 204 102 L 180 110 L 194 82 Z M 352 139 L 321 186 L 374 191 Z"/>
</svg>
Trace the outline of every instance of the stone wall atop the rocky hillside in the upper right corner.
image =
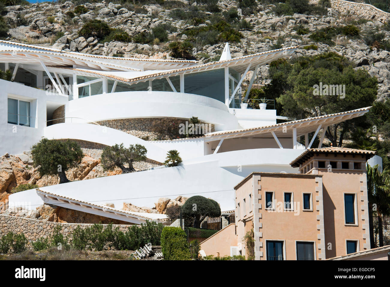
<svg viewBox="0 0 390 287">
<path fill-rule="evenodd" d="M 317 4 L 319 0 L 310 0 L 310 4 Z M 333 9 L 343 13 L 352 13 L 362 16 L 366 19 L 378 20 L 384 23 L 390 16 L 390 13 L 382 11 L 375 6 L 365 3 L 356 3 L 345 0 L 330 0 Z"/>
</svg>

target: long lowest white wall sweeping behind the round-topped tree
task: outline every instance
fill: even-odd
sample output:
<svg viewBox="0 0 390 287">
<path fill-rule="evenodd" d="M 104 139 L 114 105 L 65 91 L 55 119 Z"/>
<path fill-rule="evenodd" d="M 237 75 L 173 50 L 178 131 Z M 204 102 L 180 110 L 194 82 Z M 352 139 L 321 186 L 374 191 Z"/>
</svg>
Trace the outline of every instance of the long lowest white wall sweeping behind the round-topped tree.
<svg viewBox="0 0 390 287">
<path fill-rule="evenodd" d="M 160 197 L 176 198 L 178 195 L 202 195 L 213 198 L 221 210 L 234 209 L 234 189 L 252 171 L 297 173 L 298 168 L 289 165 L 300 152 L 298 150 L 259 149 L 207 155 L 205 161 L 174 168 L 158 168 L 137 173 L 113 175 L 90 180 L 42 187 L 43 191 L 76 200 L 104 204 L 111 202 L 121 209 L 123 202 L 137 206 L 153 207 Z M 275 162 L 275 164 L 273 164 Z M 24 195 L 28 193 L 28 197 Z M 30 191 L 9 196 L 13 202 L 31 200 L 32 206 L 43 204 Z"/>
</svg>

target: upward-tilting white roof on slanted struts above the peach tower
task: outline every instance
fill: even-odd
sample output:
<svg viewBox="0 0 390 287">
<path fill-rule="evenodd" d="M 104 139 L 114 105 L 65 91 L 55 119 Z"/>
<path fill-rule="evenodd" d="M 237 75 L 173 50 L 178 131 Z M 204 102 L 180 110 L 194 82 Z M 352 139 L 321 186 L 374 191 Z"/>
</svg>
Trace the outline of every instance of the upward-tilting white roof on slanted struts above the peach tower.
<svg viewBox="0 0 390 287">
<path fill-rule="evenodd" d="M 229 139 L 235 137 L 272 137 L 274 132 L 277 137 L 293 137 L 293 128 L 296 128 L 296 135 L 300 137 L 310 132 L 314 132 L 321 125 L 321 128 L 328 127 L 346 121 L 347 119 L 363 116 L 371 107 L 356 109 L 353 111 L 339 112 L 337 114 L 328 114 L 324 116 L 299 119 L 297 121 L 288 121 L 258 128 L 244 128 L 238 130 L 229 130 L 225 132 L 211 132 L 205 135 L 205 141 L 216 141 L 220 139 Z"/>
</svg>

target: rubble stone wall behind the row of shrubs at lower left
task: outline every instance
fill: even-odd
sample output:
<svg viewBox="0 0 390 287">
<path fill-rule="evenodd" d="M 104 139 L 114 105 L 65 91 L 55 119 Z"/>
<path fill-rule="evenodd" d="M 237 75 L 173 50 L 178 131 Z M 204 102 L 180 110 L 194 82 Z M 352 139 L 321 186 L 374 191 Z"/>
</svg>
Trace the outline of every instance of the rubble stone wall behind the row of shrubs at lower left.
<svg viewBox="0 0 390 287">
<path fill-rule="evenodd" d="M 60 233 L 64 236 L 68 236 L 68 240 L 70 242 L 71 236 L 69 235 L 71 235 L 72 231 L 76 229 L 77 226 L 85 228 L 91 226 L 92 224 L 58 223 L 0 214 L 0 237 L 12 231 L 14 234 L 24 234 L 29 241 L 36 241 L 38 238 L 46 238 L 53 235 L 53 228 L 57 225 L 61 226 Z M 119 227 L 119 230 L 126 232 L 128 227 L 131 225 L 112 226 L 113 228 Z M 28 244 L 28 247 L 32 249 L 31 243 Z"/>
</svg>

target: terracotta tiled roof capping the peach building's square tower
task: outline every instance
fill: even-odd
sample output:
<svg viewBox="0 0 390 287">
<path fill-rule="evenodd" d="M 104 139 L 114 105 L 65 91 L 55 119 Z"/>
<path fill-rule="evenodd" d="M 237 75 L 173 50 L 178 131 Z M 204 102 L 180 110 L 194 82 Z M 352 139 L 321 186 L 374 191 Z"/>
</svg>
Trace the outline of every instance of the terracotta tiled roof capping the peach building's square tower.
<svg viewBox="0 0 390 287">
<path fill-rule="evenodd" d="M 309 159 L 313 156 L 314 153 L 336 153 L 336 154 L 358 154 L 358 155 L 366 155 L 366 159 L 369 159 L 375 155 L 376 152 L 372 150 L 356 150 L 354 148 L 339 148 L 339 147 L 329 147 L 329 148 L 309 148 L 305 150 L 299 157 L 290 162 L 290 165 L 294 168 L 300 166 L 302 162 Z"/>
</svg>

